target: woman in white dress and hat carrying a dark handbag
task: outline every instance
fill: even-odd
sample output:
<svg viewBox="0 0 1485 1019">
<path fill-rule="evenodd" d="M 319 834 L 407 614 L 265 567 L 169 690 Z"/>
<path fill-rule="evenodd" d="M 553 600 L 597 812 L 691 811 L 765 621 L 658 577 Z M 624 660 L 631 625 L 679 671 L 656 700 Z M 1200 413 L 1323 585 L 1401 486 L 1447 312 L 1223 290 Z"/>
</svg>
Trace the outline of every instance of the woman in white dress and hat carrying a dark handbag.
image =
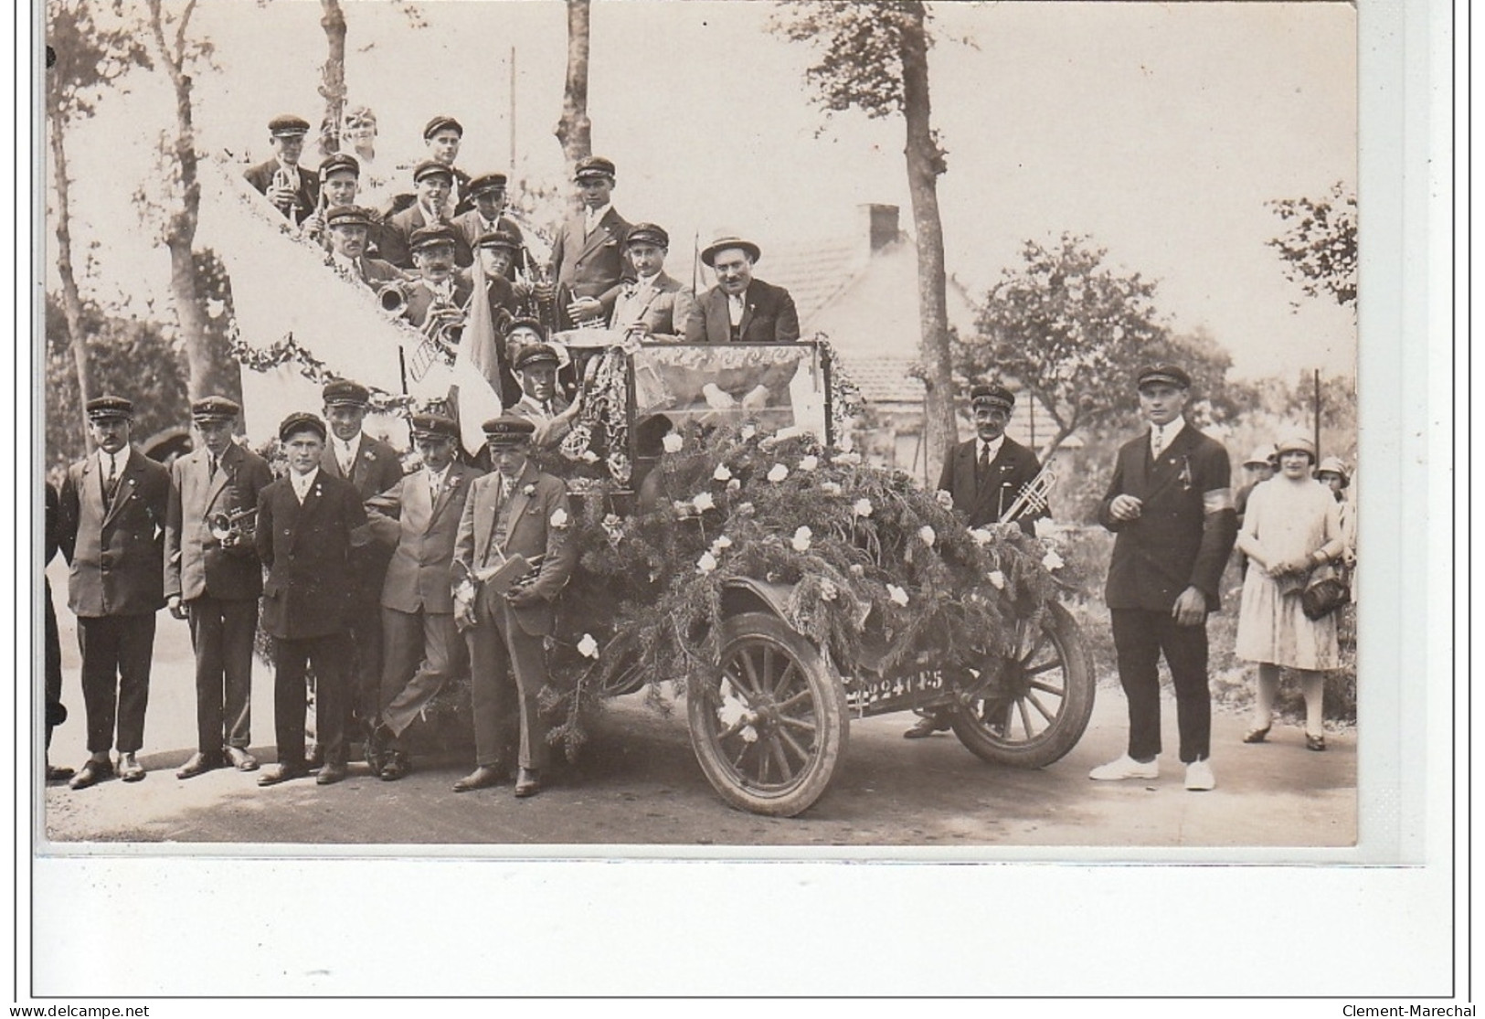
<svg viewBox="0 0 1485 1019">
<path fill-rule="evenodd" d="M 1310 570 L 1345 551 L 1339 507 L 1316 481 L 1314 443 L 1279 444 L 1279 474 L 1253 489 L 1237 547 L 1250 563 L 1237 616 L 1237 657 L 1258 662 L 1253 728 L 1243 743 L 1262 743 L 1274 717 L 1279 670 L 1299 673 L 1305 703 L 1305 746 L 1325 750 L 1325 670 L 1339 665 L 1335 613 L 1305 616 L 1299 603 Z"/>
</svg>

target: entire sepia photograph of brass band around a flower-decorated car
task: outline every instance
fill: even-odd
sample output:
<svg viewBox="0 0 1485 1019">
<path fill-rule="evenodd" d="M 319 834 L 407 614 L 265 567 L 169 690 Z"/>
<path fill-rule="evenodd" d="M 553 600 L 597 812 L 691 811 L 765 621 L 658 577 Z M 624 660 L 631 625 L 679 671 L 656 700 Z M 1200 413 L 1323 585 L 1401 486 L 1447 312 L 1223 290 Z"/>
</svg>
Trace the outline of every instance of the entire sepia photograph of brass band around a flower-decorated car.
<svg viewBox="0 0 1485 1019">
<path fill-rule="evenodd" d="M 39 851 L 1357 845 L 1353 4 L 43 13 Z"/>
</svg>

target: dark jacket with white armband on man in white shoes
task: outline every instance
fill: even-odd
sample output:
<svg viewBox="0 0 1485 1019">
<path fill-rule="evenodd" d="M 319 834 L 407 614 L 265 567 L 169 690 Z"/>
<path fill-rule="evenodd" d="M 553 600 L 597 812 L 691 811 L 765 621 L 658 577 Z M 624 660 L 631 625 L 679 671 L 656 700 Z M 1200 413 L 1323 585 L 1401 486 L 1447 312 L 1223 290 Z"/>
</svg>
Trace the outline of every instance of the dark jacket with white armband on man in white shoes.
<svg viewBox="0 0 1485 1019">
<path fill-rule="evenodd" d="M 1149 455 L 1149 432 L 1118 452 L 1114 478 L 1099 504 L 1099 523 L 1118 535 L 1105 600 L 1111 609 L 1169 612 L 1187 587 L 1221 605 L 1218 582 L 1237 538 L 1233 468 L 1227 449 L 1189 423 L 1161 452 Z M 1142 501 L 1136 520 L 1114 520 L 1117 495 Z"/>
</svg>

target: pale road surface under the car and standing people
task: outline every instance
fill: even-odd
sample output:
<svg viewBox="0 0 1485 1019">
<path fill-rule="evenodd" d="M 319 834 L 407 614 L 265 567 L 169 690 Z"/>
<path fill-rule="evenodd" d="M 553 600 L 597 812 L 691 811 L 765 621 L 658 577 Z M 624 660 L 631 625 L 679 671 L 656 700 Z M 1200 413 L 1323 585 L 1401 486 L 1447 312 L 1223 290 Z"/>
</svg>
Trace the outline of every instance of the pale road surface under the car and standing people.
<svg viewBox="0 0 1485 1019">
<path fill-rule="evenodd" d="M 65 579 L 53 588 L 65 591 Z M 77 645 L 62 625 L 64 700 L 73 720 L 56 731 L 52 759 L 76 766 L 83 712 Z M 554 771 L 538 798 L 509 786 L 457 795 L 469 761 L 420 759 L 398 783 L 364 765 L 325 789 L 294 781 L 258 789 L 254 775 L 217 771 L 178 781 L 195 743 L 192 657 L 186 624 L 159 618 L 146 723 L 143 783 L 105 781 L 46 790 L 48 835 L 58 842 L 288 842 L 451 845 L 780 845 L 780 847 L 1323 847 L 1356 839 L 1356 740 L 1332 734 L 1311 753 L 1296 728 L 1243 746 L 1244 719 L 1213 719 L 1218 789 L 1182 789 L 1175 710 L 1166 706 L 1166 774 L 1151 783 L 1093 783 L 1087 772 L 1124 741 L 1120 691 L 1099 691 L 1083 741 L 1041 771 L 983 764 L 952 735 L 906 741 L 910 716 L 855 720 L 826 795 L 797 818 L 726 807 L 707 784 L 686 734 L 685 710 L 656 714 L 640 697 L 619 698 L 576 766 Z M 272 677 L 254 677 L 254 734 L 272 740 Z M 255 747 L 272 759 L 272 747 Z M 502 850 L 503 851 L 503 850 Z"/>
</svg>

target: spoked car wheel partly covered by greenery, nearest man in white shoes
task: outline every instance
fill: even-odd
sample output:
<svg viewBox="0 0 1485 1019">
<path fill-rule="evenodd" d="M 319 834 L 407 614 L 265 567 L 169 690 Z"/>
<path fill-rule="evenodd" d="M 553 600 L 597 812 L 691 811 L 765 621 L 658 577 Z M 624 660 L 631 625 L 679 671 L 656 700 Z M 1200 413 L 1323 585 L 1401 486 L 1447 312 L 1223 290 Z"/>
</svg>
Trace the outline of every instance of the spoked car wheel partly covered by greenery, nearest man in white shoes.
<svg viewBox="0 0 1485 1019">
<path fill-rule="evenodd" d="M 995 665 L 986 665 L 995 667 Z M 1083 737 L 1093 714 L 1093 654 L 1060 605 L 999 662 L 999 683 L 953 713 L 953 734 L 992 764 L 1044 768 Z"/>
</svg>

